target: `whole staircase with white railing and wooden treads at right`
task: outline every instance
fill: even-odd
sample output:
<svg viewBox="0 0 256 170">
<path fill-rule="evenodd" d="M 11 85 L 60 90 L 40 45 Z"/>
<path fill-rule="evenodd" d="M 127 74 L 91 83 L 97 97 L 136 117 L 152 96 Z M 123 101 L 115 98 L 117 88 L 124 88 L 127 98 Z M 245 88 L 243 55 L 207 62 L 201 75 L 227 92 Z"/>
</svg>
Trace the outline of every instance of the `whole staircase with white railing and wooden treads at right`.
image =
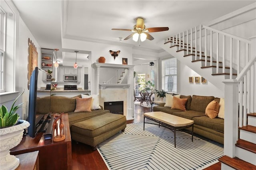
<svg viewBox="0 0 256 170">
<path fill-rule="evenodd" d="M 224 170 L 256 170 L 256 55 L 250 40 L 207 26 L 160 46 L 224 92 Z"/>
</svg>

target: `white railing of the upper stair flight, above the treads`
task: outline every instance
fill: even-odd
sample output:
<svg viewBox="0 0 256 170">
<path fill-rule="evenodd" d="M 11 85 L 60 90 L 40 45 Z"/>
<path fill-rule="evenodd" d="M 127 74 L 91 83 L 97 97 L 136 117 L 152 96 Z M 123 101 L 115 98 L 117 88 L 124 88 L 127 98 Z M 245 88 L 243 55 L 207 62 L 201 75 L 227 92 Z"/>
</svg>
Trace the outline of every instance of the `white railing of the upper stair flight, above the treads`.
<svg viewBox="0 0 256 170">
<path fill-rule="evenodd" d="M 229 79 L 239 74 L 250 59 L 250 40 L 203 25 L 171 36 L 165 42 L 185 49 L 186 55 L 195 56 L 194 60 L 205 60 L 204 67 L 214 65 L 217 74 L 228 73 Z"/>
</svg>

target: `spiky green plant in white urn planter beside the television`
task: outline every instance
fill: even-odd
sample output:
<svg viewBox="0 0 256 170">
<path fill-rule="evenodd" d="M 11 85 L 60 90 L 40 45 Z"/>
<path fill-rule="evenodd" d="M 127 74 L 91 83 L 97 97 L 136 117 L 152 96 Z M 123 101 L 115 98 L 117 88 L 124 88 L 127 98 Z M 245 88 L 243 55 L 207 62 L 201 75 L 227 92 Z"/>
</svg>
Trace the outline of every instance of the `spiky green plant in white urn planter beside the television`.
<svg viewBox="0 0 256 170">
<path fill-rule="evenodd" d="M 24 120 L 18 120 L 19 115 L 16 112 L 23 103 L 14 106 L 17 99 L 24 91 L 14 100 L 11 109 L 2 105 L 0 107 L 0 167 L 1 170 L 16 169 L 20 160 L 14 155 L 10 155 L 10 149 L 17 146 L 22 140 L 24 129 L 29 127 L 29 123 Z"/>
</svg>

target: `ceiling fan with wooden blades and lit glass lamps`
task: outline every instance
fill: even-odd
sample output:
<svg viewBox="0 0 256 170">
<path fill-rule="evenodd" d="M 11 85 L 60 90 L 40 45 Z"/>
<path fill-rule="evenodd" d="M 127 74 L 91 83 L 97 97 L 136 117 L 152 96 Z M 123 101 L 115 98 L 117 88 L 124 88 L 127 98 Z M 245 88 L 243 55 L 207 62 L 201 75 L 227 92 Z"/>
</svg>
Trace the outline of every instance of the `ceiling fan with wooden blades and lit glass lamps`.
<svg viewBox="0 0 256 170">
<path fill-rule="evenodd" d="M 136 18 L 137 22 L 134 26 L 133 30 L 130 29 L 118 29 L 118 28 L 112 28 L 112 30 L 120 30 L 120 31 L 131 31 L 134 32 L 130 34 L 128 37 L 124 38 L 124 40 L 128 40 L 132 38 L 135 42 L 142 41 L 144 42 L 146 39 L 148 40 L 154 40 L 154 37 L 152 37 L 148 32 L 161 32 L 161 31 L 168 31 L 168 27 L 153 27 L 153 28 L 146 28 L 144 25 L 144 18 L 138 17 Z"/>
</svg>

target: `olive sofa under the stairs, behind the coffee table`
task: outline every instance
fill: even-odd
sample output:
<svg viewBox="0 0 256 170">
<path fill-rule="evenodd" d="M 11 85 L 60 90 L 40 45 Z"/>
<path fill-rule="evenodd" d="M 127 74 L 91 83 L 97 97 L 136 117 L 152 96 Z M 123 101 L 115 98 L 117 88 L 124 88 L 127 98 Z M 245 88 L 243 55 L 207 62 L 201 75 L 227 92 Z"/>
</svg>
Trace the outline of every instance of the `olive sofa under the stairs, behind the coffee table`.
<svg viewBox="0 0 256 170">
<path fill-rule="evenodd" d="M 194 121 L 195 133 L 224 144 L 224 119 L 219 117 L 211 119 L 205 114 L 207 105 L 213 100 L 220 103 L 220 98 L 214 96 L 193 95 L 191 97 L 180 95 L 180 99 L 185 98 L 188 99 L 185 105 L 186 111 L 171 109 L 171 107 L 164 107 L 163 105 L 154 106 L 153 111 L 162 111 L 171 115 L 191 119 Z"/>
</svg>

